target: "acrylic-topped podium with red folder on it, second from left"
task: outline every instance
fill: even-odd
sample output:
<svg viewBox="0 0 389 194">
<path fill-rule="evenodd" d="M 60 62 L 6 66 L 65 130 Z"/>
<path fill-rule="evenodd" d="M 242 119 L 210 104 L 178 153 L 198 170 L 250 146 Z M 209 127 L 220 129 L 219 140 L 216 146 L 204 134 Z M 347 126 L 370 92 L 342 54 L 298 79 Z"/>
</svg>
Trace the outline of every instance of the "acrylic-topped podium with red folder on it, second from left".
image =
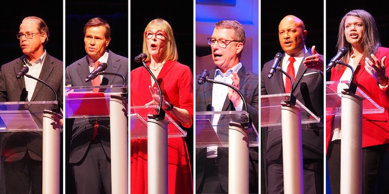
<svg viewBox="0 0 389 194">
<path fill-rule="evenodd" d="M 93 89 L 98 89 L 93 92 Z M 66 87 L 65 118 L 109 117 L 113 194 L 128 194 L 126 85 Z"/>
</svg>

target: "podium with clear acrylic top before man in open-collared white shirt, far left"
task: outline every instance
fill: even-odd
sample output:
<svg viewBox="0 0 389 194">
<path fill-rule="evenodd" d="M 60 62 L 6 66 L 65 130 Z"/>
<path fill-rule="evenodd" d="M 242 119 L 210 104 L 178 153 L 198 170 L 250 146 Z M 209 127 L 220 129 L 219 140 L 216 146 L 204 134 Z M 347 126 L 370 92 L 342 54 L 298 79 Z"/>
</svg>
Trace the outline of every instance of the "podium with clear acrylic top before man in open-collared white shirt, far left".
<svg viewBox="0 0 389 194">
<path fill-rule="evenodd" d="M 42 132 L 42 194 L 59 194 L 62 115 L 57 101 L 0 102 L 0 132 Z M 17 134 L 15 134 L 17 135 Z"/>
</svg>

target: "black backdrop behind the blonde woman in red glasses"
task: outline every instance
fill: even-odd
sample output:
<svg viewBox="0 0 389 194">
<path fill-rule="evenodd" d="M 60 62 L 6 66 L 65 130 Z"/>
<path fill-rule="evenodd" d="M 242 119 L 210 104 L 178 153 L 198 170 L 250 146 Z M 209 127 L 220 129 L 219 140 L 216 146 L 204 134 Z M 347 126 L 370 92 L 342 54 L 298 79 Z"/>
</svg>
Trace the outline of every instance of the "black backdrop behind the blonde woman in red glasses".
<svg viewBox="0 0 389 194">
<path fill-rule="evenodd" d="M 145 3 L 147 2 L 147 3 Z M 130 68 L 135 69 L 141 64 L 134 62 L 134 57 L 142 52 L 143 32 L 147 24 L 156 18 L 169 22 L 173 29 L 178 50 L 178 62 L 188 65 L 194 71 L 194 29 L 193 29 L 193 2 L 181 0 L 133 0 L 130 5 Z M 182 126 L 181 126 L 182 127 Z M 185 141 L 188 145 L 193 176 L 193 126 L 186 130 Z"/>
</svg>

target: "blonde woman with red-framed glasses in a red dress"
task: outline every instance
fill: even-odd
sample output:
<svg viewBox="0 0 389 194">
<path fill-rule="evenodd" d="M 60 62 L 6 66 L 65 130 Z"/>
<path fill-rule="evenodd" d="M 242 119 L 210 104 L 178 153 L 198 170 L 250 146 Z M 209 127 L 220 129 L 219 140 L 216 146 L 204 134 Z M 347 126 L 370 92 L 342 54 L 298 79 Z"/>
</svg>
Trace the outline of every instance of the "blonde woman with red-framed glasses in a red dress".
<svg viewBox="0 0 389 194">
<path fill-rule="evenodd" d="M 162 109 L 177 124 L 193 124 L 193 73 L 177 62 L 173 30 L 163 19 L 154 19 L 143 36 L 146 65 L 162 91 Z M 159 105 L 159 91 L 143 66 L 131 71 L 131 106 Z M 132 125 L 132 124 L 131 124 Z M 169 130 L 169 127 L 168 127 Z M 147 140 L 131 140 L 131 194 L 147 193 Z M 193 178 L 184 138 L 168 138 L 168 192 L 192 194 Z"/>
</svg>

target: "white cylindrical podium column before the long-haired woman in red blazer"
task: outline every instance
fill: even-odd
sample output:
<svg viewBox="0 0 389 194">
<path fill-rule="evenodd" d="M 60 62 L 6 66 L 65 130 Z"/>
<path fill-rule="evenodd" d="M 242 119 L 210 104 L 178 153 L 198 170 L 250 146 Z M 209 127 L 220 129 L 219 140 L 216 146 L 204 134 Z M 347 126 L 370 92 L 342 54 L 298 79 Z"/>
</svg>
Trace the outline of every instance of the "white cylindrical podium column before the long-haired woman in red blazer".
<svg viewBox="0 0 389 194">
<path fill-rule="evenodd" d="M 340 193 L 362 193 L 362 100 L 358 95 L 342 95 L 340 127 Z"/>
</svg>

